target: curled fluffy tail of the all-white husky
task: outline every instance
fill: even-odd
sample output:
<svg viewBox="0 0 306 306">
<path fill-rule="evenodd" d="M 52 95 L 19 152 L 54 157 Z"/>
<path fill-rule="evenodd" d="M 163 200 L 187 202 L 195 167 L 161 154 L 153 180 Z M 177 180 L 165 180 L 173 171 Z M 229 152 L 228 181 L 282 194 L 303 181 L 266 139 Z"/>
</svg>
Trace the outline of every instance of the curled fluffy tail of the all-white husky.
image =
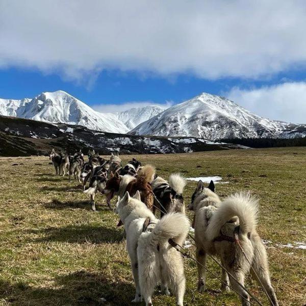
<svg viewBox="0 0 306 306">
<path fill-rule="evenodd" d="M 181 213 L 166 214 L 155 226 L 150 234 L 150 243 L 153 245 L 165 244 L 170 238 L 182 245 L 189 232 L 190 222 Z"/>
</svg>

